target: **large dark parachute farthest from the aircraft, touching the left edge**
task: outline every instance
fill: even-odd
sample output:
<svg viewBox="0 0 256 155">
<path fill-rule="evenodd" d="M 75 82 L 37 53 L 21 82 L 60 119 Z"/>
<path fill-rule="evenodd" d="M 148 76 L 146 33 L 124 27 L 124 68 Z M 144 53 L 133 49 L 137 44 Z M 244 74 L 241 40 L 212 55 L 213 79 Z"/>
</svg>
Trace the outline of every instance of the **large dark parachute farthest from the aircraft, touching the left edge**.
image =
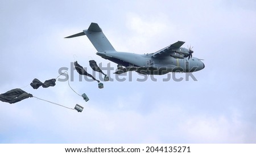
<svg viewBox="0 0 256 155">
<path fill-rule="evenodd" d="M 9 104 L 14 104 L 28 97 L 33 97 L 33 95 L 23 91 L 22 89 L 16 88 L 11 89 L 6 93 L 0 94 L 0 101 L 9 102 Z"/>
</svg>

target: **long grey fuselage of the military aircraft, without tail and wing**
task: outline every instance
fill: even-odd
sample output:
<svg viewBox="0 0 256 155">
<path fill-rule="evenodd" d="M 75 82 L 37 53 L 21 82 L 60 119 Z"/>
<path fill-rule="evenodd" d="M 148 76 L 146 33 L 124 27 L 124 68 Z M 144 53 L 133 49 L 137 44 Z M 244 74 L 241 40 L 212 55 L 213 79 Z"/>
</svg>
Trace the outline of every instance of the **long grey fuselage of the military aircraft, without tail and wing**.
<svg viewBox="0 0 256 155">
<path fill-rule="evenodd" d="M 204 63 L 196 57 L 190 59 L 173 57 L 152 57 L 151 54 L 135 54 L 127 52 L 97 52 L 102 58 L 108 59 L 125 67 L 143 67 L 142 74 L 163 75 L 168 72 L 195 72 L 204 68 Z M 152 72 L 154 71 L 154 72 Z"/>
</svg>

